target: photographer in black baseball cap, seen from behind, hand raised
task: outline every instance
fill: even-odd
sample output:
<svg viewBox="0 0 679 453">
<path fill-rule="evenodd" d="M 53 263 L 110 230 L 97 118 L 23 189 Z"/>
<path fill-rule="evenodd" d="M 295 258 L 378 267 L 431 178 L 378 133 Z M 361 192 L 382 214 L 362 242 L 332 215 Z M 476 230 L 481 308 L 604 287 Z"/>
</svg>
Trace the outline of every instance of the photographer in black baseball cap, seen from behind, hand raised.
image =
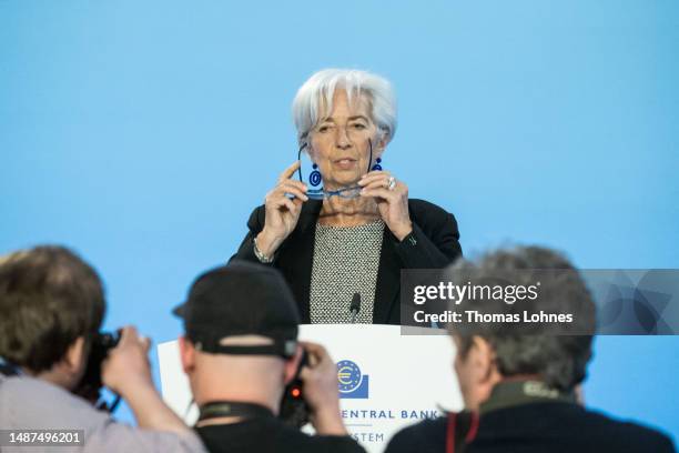
<svg viewBox="0 0 679 453">
<path fill-rule="evenodd" d="M 184 320 L 181 359 L 209 451 L 363 452 L 342 422 L 335 363 L 323 346 L 297 343 L 300 315 L 278 271 L 239 261 L 217 268 L 174 312 Z M 288 384 L 297 373 L 295 401 Z M 315 436 L 282 420 L 304 403 Z"/>
</svg>

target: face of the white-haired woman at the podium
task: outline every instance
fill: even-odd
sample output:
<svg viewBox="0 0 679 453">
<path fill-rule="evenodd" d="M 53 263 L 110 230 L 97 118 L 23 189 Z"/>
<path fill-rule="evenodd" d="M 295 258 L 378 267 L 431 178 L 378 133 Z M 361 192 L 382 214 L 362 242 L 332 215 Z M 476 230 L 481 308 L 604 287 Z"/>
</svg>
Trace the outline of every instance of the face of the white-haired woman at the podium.
<svg viewBox="0 0 679 453">
<path fill-rule="evenodd" d="M 311 132 L 310 154 L 330 190 L 353 185 L 369 171 L 369 141 L 373 160 L 386 145 L 371 120 L 368 101 L 363 95 L 352 101 L 349 105 L 345 90 L 336 90 L 332 112 Z"/>
</svg>

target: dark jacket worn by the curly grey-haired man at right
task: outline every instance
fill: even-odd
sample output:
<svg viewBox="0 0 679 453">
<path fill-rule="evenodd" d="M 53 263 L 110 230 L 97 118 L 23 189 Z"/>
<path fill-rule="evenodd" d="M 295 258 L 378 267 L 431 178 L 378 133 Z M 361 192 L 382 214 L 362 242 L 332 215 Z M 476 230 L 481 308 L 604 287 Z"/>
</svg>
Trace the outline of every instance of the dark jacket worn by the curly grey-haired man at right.
<svg viewBox="0 0 679 453">
<path fill-rule="evenodd" d="M 426 420 L 389 441 L 385 453 L 673 453 L 665 434 L 565 402 L 539 402 Z M 449 431 L 452 430 L 452 431 Z M 455 434 L 448 435 L 449 432 Z M 450 443 L 454 447 L 450 449 Z"/>
</svg>

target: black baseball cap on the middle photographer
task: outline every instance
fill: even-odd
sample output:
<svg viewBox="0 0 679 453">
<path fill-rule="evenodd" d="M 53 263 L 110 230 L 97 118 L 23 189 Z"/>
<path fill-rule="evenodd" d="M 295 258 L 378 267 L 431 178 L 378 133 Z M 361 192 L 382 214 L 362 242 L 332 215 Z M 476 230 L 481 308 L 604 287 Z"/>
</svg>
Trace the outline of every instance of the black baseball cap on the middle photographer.
<svg viewBox="0 0 679 453">
<path fill-rule="evenodd" d="M 203 352 L 240 355 L 294 355 L 300 313 L 275 269 L 233 261 L 200 275 L 174 314 L 184 320 L 186 338 Z M 266 345 L 220 344 L 227 336 L 262 335 Z"/>
</svg>

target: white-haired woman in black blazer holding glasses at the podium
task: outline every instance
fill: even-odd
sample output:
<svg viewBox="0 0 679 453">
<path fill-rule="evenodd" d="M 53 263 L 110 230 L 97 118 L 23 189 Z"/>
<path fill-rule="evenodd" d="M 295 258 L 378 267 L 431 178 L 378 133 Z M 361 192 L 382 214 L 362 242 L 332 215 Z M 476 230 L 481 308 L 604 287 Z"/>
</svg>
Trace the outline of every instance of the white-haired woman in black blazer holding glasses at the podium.
<svg viewBox="0 0 679 453">
<path fill-rule="evenodd" d="M 313 171 L 304 182 L 296 161 L 281 173 L 233 258 L 280 269 L 303 323 L 398 324 L 401 270 L 444 268 L 462 250 L 455 218 L 408 199 L 405 182 L 382 168 L 396 132 L 391 83 L 358 70 L 316 72 L 293 118 Z"/>
</svg>

